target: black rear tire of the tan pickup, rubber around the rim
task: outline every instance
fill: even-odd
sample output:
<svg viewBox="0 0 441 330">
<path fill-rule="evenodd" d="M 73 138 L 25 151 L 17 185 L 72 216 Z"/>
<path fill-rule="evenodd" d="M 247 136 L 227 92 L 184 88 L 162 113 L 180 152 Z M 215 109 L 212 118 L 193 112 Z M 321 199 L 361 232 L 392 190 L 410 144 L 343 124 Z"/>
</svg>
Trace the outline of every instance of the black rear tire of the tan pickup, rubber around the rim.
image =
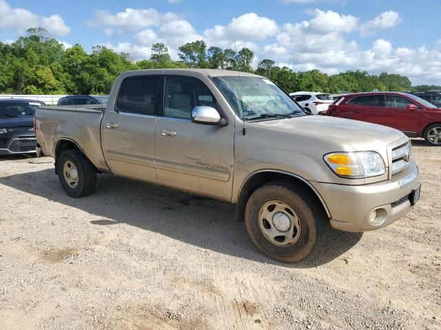
<svg viewBox="0 0 441 330">
<path fill-rule="evenodd" d="M 63 166 L 72 162 L 78 171 L 78 184 L 72 188 L 66 181 Z M 74 198 L 90 195 L 96 187 L 96 170 L 90 160 L 78 149 L 67 150 L 57 159 L 57 173 L 64 191 Z"/>
</svg>

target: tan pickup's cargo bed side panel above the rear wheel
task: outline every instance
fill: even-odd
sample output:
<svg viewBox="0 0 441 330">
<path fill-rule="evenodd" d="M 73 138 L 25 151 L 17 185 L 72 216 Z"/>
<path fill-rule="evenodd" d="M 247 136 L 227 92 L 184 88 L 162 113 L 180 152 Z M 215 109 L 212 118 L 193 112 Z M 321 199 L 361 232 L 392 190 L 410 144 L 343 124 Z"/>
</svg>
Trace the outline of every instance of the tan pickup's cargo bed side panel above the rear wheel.
<svg viewBox="0 0 441 330">
<path fill-rule="evenodd" d="M 107 171 L 101 148 L 105 105 L 39 107 L 35 113 L 37 142 L 44 155 L 55 157 L 57 144 L 70 140 L 99 170 Z"/>
</svg>

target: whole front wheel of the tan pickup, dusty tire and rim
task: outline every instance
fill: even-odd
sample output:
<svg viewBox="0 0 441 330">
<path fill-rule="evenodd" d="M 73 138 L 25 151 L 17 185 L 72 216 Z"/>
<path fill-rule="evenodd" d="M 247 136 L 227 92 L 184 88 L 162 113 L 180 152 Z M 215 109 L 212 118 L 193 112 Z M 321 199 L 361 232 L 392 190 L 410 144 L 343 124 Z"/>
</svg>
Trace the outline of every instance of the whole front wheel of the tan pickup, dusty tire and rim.
<svg viewBox="0 0 441 330">
<path fill-rule="evenodd" d="M 314 250 L 324 217 L 309 191 L 283 181 L 258 188 L 245 208 L 253 243 L 267 256 L 286 263 L 305 259 Z"/>
</svg>

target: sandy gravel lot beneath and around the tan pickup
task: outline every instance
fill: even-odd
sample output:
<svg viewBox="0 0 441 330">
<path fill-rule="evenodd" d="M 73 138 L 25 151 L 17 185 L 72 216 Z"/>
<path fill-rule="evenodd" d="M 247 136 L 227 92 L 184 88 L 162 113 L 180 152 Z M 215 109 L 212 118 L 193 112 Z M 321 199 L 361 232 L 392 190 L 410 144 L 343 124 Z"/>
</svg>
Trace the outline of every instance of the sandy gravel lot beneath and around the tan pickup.
<svg viewBox="0 0 441 330">
<path fill-rule="evenodd" d="M 52 159 L 3 157 L 0 329 L 441 329 L 441 148 L 413 145 L 418 206 L 294 265 L 227 203 L 110 175 L 72 199 Z"/>
</svg>

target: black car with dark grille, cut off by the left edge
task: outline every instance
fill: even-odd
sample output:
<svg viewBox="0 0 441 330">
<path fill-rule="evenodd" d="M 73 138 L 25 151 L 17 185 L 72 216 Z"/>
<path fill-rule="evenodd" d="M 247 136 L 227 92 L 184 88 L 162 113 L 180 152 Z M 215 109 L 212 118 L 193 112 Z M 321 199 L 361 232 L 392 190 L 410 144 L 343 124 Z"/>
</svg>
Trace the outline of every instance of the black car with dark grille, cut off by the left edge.
<svg viewBox="0 0 441 330">
<path fill-rule="evenodd" d="M 0 155 L 35 153 L 34 113 L 39 100 L 0 100 Z"/>
</svg>

